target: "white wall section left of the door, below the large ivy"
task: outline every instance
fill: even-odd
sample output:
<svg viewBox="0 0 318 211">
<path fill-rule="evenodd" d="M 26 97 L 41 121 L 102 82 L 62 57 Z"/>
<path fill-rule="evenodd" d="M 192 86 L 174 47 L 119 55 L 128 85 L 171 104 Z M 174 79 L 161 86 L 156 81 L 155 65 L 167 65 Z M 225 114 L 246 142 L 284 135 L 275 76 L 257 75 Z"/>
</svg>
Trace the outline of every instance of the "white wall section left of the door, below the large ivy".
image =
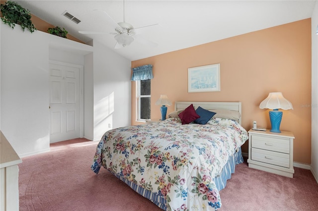
<svg viewBox="0 0 318 211">
<path fill-rule="evenodd" d="M 20 156 L 49 150 L 49 46 L 1 21 L 1 131 Z M 35 59 L 42 58 L 42 59 Z"/>
</svg>

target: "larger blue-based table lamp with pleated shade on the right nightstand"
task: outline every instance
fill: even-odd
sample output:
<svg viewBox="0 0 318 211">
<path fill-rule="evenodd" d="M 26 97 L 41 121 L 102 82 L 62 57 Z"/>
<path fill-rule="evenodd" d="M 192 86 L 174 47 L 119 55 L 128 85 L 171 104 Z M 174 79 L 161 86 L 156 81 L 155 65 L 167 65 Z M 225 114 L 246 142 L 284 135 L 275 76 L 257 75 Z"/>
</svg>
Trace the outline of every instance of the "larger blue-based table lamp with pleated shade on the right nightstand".
<svg viewBox="0 0 318 211">
<path fill-rule="evenodd" d="M 274 133 L 280 133 L 279 126 L 283 116 L 283 112 L 278 109 L 294 109 L 291 102 L 286 100 L 281 92 L 269 93 L 268 97 L 260 103 L 259 108 L 273 109 L 269 111 L 269 119 L 272 125 L 270 131 Z"/>
</svg>

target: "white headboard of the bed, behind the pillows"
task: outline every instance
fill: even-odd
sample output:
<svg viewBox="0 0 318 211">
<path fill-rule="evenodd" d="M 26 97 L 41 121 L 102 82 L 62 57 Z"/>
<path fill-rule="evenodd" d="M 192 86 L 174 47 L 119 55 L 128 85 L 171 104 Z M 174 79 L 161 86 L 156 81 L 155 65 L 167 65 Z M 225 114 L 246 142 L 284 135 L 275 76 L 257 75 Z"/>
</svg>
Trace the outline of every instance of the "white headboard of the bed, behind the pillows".
<svg viewBox="0 0 318 211">
<path fill-rule="evenodd" d="M 193 104 L 194 109 L 201 106 L 204 109 L 207 110 L 217 110 L 217 109 L 223 109 L 223 110 L 235 110 L 239 111 L 240 115 L 242 115 L 242 109 L 241 109 L 241 102 L 181 102 L 177 101 L 174 102 L 174 110 L 182 110 L 186 107 Z M 239 117 L 239 124 L 241 124 L 241 117 Z"/>
</svg>

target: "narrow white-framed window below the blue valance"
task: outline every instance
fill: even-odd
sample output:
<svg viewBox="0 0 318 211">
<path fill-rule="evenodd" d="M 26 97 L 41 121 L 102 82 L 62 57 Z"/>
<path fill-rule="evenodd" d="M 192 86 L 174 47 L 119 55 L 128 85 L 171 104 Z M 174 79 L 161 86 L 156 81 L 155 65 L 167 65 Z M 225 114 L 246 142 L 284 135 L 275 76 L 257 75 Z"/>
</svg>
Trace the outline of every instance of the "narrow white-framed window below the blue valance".
<svg viewBox="0 0 318 211">
<path fill-rule="evenodd" d="M 137 120 L 150 119 L 151 79 L 136 81 Z"/>
</svg>

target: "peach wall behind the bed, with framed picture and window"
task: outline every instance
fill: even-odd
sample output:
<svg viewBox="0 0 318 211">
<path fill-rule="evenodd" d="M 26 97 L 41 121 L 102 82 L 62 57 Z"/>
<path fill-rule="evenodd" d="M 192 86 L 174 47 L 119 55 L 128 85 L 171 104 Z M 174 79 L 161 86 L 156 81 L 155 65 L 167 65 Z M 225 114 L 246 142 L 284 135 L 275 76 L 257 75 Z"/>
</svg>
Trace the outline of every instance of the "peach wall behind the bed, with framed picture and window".
<svg viewBox="0 0 318 211">
<path fill-rule="evenodd" d="M 187 92 L 187 68 L 221 64 L 220 92 Z M 252 121 L 270 128 L 268 109 L 259 104 L 269 92 L 282 92 L 294 106 L 283 110 L 280 129 L 292 131 L 294 161 L 311 163 L 311 19 L 288 23 L 236 37 L 132 61 L 132 67 L 152 64 L 151 117 L 160 118 L 155 102 L 160 94 L 172 101 L 242 102 L 242 126 Z M 132 82 L 132 125 L 135 115 Z M 168 106 L 173 111 L 174 104 Z M 242 151 L 248 152 L 247 142 Z"/>
</svg>

